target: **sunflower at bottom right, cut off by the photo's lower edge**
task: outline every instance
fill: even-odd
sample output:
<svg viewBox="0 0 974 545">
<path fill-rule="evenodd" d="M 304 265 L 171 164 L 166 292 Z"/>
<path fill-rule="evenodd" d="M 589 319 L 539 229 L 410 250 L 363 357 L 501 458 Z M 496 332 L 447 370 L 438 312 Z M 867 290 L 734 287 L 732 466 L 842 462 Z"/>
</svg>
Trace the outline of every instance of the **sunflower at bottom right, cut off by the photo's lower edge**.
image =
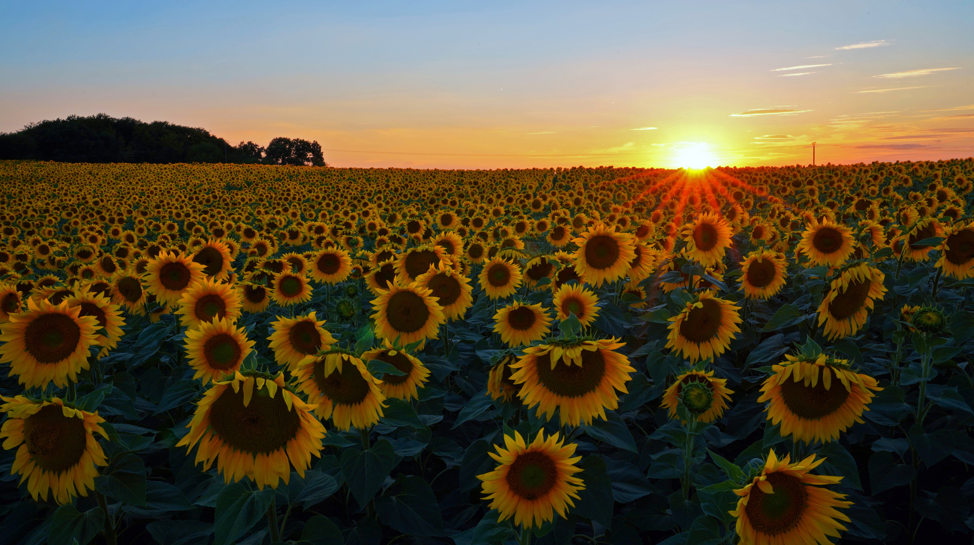
<svg viewBox="0 0 974 545">
<path fill-rule="evenodd" d="M 761 475 L 743 489 L 733 491 L 740 496 L 731 515 L 737 518 L 736 532 L 741 545 L 807 543 L 829 545 L 829 537 L 840 537 L 846 529 L 838 520 L 849 518 L 836 510 L 852 505 L 842 501 L 845 494 L 815 485 L 835 485 L 843 477 L 812 475 L 809 473 L 825 458 L 815 460 L 811 454 L 797 463 L 789 463 L 790 454 L 778 460 L 774 451 L 768 452 Z"/>
</svg>

